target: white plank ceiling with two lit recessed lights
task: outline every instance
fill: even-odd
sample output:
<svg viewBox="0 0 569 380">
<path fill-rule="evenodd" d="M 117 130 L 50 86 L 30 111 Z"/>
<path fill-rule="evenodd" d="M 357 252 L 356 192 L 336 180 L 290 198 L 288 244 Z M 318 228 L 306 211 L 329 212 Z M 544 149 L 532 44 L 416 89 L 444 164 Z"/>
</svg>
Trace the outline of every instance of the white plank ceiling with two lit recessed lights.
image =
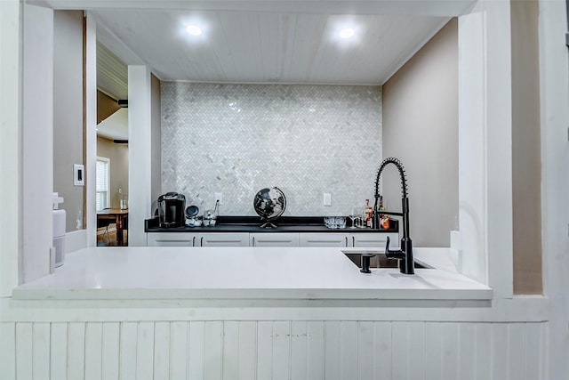
<svg viewBox="0 0 569 380">
<path fill-rule="evenodd" d="M 382 85 L 447 17 L 96 10 L 162 80 Z M 190 20 L 204 34 L 189 36 Z M 338 37 L 350 25 L 356 35 Z"/>
</svg>

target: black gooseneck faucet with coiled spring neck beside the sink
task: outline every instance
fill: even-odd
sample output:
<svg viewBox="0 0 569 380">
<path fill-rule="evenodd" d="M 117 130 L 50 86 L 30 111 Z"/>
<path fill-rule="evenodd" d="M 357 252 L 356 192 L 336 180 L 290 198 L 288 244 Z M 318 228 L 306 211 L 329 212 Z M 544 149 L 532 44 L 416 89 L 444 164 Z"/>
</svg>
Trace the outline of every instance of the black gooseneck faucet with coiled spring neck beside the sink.
<svg viewBox="0 0 569 380">
<path fill-rule="evenodd" d="M 380 195 L 380 177 L 385 166 L 393 164 L 397 166 L 399 171 L 399 177 L 401 178 L 401 213 L 394 213 L 390 211 L 380 211 L 378 212 L 378 201 L 381 197 Z M 399 260 L 399 270 L 401 273 L 414 274 L 413 268 L 413 244 L 411 238 L 409 237 L 409 198 L 407 198 L 407 182 L 405 180 L 405 168 L 401 161 L 397 158 L 385 158 L 381 162 L 380 169 L 377 172 L 377 178 L 375 179 L 375 203 L 373 204 L 373 227 L 377 228 L 379 226 L 379 214 L 386 215 L 397 215 L 403 217 L 403 237 L 401 238 L 401 247 L 399 250 L 389 249 L 389 237 L 385 245 L 385 255 L 387 258 L 393 258 Z"/>
</svg>

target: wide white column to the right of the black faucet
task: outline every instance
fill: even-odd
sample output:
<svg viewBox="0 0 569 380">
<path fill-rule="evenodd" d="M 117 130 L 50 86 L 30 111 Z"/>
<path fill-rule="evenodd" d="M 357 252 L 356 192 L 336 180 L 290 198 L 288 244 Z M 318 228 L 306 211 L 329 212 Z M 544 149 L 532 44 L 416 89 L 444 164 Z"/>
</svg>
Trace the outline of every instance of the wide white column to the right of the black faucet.
<svg viewBox="0 0 569 380">
<path fill-rule="evenodd" d="M 459 22 L 459 218 L 462 271 L 513 293 L 509 1 Z"/>
</svg>

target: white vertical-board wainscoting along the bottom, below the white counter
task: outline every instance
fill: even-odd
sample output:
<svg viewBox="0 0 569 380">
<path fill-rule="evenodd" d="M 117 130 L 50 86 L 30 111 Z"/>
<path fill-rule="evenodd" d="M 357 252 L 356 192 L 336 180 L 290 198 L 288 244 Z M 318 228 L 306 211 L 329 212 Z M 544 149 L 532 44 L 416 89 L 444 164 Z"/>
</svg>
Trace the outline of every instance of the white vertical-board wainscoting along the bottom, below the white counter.
<svg viewBox="0 0 569 380">
<path fill-rule="evenodd" d="M 10 322 L 0 378 L 546 379 L 547 323 Z"/>
</svg>

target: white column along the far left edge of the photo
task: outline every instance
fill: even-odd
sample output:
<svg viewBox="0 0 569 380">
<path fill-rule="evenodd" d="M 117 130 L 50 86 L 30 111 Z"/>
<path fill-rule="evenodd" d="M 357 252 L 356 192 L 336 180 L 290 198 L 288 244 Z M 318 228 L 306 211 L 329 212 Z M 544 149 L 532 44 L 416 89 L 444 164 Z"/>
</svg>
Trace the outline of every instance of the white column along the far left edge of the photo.
<svg viewBox="0 0 569 380">
<path fill-rule="evenodd" d="M 18 285 L 20 247 L 20 1 L 0 1 L 0 297 Z"/>
</svg>

